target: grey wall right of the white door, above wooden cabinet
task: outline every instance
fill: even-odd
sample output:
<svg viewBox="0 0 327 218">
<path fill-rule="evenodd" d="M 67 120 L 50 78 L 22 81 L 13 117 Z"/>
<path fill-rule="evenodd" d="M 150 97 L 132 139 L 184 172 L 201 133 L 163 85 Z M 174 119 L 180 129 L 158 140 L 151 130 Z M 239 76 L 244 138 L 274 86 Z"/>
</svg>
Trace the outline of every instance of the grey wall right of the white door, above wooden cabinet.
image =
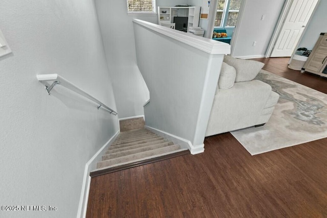
<svg viewBox="0 0 327 218">
<path fill-rule="evenodd" d="M 298 47 L 306 47 L 312 50 L 320 33 L 327 32 L 326 10 L 327 0 L 320 0 Z"/>
</svg>

